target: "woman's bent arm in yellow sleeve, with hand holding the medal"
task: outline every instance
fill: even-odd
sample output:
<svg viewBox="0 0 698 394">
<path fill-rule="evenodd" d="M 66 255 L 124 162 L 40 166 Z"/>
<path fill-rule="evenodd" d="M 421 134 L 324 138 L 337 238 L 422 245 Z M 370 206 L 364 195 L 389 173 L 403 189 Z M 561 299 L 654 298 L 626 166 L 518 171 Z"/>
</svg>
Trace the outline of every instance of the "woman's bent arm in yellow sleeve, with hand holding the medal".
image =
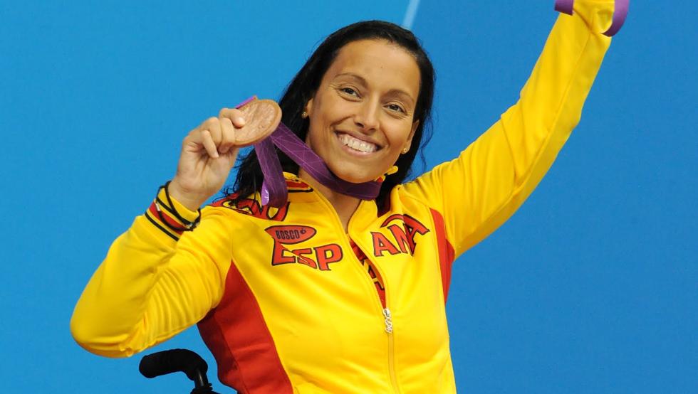
<svg viewBox="0 0 698 394">
<path fill-rule="evenodd" d="M 71 331 L 80 346 L 130 356 L 196 324 L 217 305 L 234 224 L 210 208 L 199 217 L 197 208 L 222 187 L 235 162 L 241 115 L 224 109 L 184 139 L 175 179 L 114 241 L 78 300 Z"/>
</svg>

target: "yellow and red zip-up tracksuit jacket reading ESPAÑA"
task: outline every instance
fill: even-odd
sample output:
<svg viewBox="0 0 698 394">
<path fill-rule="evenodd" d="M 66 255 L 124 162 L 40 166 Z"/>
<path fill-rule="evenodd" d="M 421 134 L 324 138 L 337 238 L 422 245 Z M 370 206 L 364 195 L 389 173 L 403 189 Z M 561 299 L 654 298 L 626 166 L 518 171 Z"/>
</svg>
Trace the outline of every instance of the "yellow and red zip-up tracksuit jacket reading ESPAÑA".
<svg viewBox="0 0 698 394">
<path fill-rule="evenodd" d="M 363 201 L 345 233 L 330 203 L 286 174 L 288 204 L 196 213 L 158 195 L 110 247 L 75 307 L 78 343 L 130 356 L 193 324 L 242 393 L 454 393 L 444 303 L 454 258 L 533 191 L 580 119 L 610 38 L 613 1 L 558 17 L 521 98 L 457 159 Z M 386 308 L 352 252 L 368 257 Z"/>
</svg>

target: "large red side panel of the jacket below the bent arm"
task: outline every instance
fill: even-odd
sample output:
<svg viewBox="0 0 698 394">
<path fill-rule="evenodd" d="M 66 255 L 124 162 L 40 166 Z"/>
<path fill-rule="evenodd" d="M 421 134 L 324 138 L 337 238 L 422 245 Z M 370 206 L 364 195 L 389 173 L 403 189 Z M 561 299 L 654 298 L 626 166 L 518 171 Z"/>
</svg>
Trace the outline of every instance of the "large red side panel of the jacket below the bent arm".
<svg viewBox="0 0 698 394">
<path fill-rule="evenodd" d="M 234 263 L 225 289 L 218 307 L 199 321 L 219 380 L 240 393 L 293 393 L 259 304 Z"/>
</svg>

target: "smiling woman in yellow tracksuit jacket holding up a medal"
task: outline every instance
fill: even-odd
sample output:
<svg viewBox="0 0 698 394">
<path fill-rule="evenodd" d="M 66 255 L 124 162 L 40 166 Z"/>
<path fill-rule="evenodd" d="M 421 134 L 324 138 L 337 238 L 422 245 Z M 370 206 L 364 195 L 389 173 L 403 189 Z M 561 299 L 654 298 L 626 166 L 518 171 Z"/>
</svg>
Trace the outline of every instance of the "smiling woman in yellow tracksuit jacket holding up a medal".
<svg viewBox="0 0 698 394">
<path fill-rule="evenodd" d="M 110 248 L 75 307 L 78 343 L 130 356 L 199 325 L 219 378 L 243 393 L 452 393 L 444 303 L 452 261 L 531 193 L 578 122 L 613 3 L 560 16 L 521 99 L 457 159 L 402 183 L 424 139 L 431 63 L 382 22 L 333 33 L 281 100 L 283 122 L 340 179 L 281 155 L 288 202 L 260 203 L 254 152 L 233 188 L 239 110 L 184 139 L 175 178 Z M 397 171 L 395 169 L 397 166 Z M 198 223 L 197 226 L 195 226 Z"/>
</svg>

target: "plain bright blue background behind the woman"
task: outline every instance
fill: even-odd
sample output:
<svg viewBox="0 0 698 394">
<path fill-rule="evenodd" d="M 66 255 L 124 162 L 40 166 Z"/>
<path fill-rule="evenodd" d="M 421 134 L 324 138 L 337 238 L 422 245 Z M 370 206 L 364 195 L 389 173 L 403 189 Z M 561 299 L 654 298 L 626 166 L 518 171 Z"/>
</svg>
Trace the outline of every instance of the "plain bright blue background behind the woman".
<svg viewBox="0 0 698 394">
<path fill-rule="evenodd" d="M 77 346 L 73 306 L 175 171 L 184 135 L 278 97 L 321 39 L 408 1 L 0 2 L 0 391 L 188 393 Z M 463 393 L 698 393 L 695 2 L 633 1 L 583 119 L 531 198 L 454 264 Z M 437 69 L 427 169 L 516 101 L 553 1 L 423 0 Z M 215 367 L 197 331 L 187 347 Z M 220 392 L 227 390 L 216 382 Z"/>
</svg>

